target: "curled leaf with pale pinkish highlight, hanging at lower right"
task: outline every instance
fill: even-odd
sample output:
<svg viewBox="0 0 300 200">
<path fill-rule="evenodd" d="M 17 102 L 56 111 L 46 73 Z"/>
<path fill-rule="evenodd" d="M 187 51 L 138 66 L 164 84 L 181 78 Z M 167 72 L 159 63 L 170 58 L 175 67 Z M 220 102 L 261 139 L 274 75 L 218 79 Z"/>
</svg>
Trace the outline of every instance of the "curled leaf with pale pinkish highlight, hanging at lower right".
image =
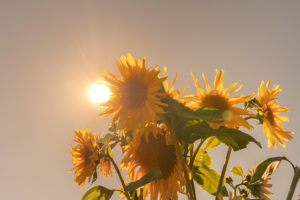
<svg viewBox="0 0 300 200">
<path fill-rule="evenodd" d="M 268 176 L 273 174 L 282 160 L 286 160 L 286 158 L 284 156 L 273 157 L 258 163 L 254 169 L 250 183 L 254 183 L 260 179 L 266 179 Z"/>
</svg>

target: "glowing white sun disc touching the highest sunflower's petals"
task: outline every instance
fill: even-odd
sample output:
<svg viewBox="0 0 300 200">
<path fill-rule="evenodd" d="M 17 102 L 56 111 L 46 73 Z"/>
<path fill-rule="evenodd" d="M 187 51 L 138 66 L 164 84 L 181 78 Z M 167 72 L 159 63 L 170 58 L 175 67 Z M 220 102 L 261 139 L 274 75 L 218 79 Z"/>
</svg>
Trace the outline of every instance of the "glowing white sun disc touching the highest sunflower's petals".
<svg viewBox="0 0 300 200">
<path fill-rule="evenodd" d="M 95 83 L 91 86 L 89 94 L 93 102 L 104 103 L 109 100 L 111 92 L 106 85 Z"/>
</svg>

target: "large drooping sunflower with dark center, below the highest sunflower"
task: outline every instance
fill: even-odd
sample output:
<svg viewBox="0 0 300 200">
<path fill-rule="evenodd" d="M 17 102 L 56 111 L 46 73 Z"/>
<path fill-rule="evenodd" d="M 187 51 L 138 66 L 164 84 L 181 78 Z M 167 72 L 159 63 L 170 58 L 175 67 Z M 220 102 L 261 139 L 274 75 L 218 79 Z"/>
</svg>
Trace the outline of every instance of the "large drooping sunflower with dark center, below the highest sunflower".
<svg viewBox="0 0 300 200">
<path fill-rule="evenodd" d="M 122 167 L 128 169 L 128 176 L 138 180 L 155 168 L 162 177 L 144 186 L 144 199 L 150 194 L 151 200 L 178 199 L 177 192 L 183 192 L 185 179 L 176 149 L 168 144 L 169 132 L 156 125 L 147 126 L 145 134 L 136 134 L 124 151 Z M 136 170 L 138 168 L 138 170 Z"/>
</svg>

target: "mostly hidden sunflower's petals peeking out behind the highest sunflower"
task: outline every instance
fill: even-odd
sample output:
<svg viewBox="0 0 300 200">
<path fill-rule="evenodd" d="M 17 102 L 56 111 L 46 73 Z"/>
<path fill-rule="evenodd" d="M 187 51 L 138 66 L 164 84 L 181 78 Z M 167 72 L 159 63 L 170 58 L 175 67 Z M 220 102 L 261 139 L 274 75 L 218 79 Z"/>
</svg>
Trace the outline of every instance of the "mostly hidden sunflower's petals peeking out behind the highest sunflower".
<svg viewBox="0 0 300 200">
<path fill-rule="evenodd" d="M 167 67 L 164 67 L 164 77 L 167 78 Z M 175 82 L 177 80 L 177 73 L 175 73 L 175 77 L 174 77 L 174 80 L 173 82 L 171 83 L 170 87 L 169 87 L 169 83 L 166 80 L 163 81 L 163 86 L 164 86 L 164 89 L 166 91 L 166 93 L 173 99 L 177 100 L 178 102 L 180 103 L 185 103 L 185 96 L 183 97 L 179 97 L 186 89 L 188 89 L 188 87 L 185 87 L 181 90 L 174 90 L 174 85 L 175 85 Z"/>
</svg>

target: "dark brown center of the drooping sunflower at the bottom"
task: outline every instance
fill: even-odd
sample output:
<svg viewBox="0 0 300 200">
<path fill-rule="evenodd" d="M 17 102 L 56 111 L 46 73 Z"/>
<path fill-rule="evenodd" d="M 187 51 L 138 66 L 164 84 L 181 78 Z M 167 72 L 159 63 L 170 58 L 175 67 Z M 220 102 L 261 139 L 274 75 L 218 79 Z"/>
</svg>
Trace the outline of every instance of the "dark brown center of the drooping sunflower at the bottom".
<svg viewBox="0 0 300 200">
<path fill-rule="evenodd" d="M 166 145 L 165 137 L 160 134 L 156 137 L 149 134 L 148 142 L 142 136 L 136 153 L 137 162 L 144 171 L 149 172 L 159 168 L 163 175 L 162 178 L 168 178 L 177 163 L 174 145 Z"/>
</svg>

